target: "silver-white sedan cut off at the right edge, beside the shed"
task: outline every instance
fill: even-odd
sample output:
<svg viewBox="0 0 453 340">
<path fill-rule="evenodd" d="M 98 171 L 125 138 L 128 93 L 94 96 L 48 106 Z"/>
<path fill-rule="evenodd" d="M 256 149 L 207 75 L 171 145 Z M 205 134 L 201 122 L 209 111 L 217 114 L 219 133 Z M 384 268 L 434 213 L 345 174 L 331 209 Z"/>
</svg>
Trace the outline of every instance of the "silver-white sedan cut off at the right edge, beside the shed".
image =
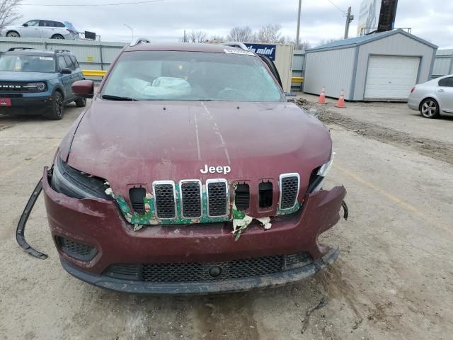
<svg viewBox="0 0 453 340">
<path fill-rule="evenodd" d="M 408 106 L 425 118 L 453 115 L 453 74 L 416 85 L 409 94 Z"/>
</svg>

